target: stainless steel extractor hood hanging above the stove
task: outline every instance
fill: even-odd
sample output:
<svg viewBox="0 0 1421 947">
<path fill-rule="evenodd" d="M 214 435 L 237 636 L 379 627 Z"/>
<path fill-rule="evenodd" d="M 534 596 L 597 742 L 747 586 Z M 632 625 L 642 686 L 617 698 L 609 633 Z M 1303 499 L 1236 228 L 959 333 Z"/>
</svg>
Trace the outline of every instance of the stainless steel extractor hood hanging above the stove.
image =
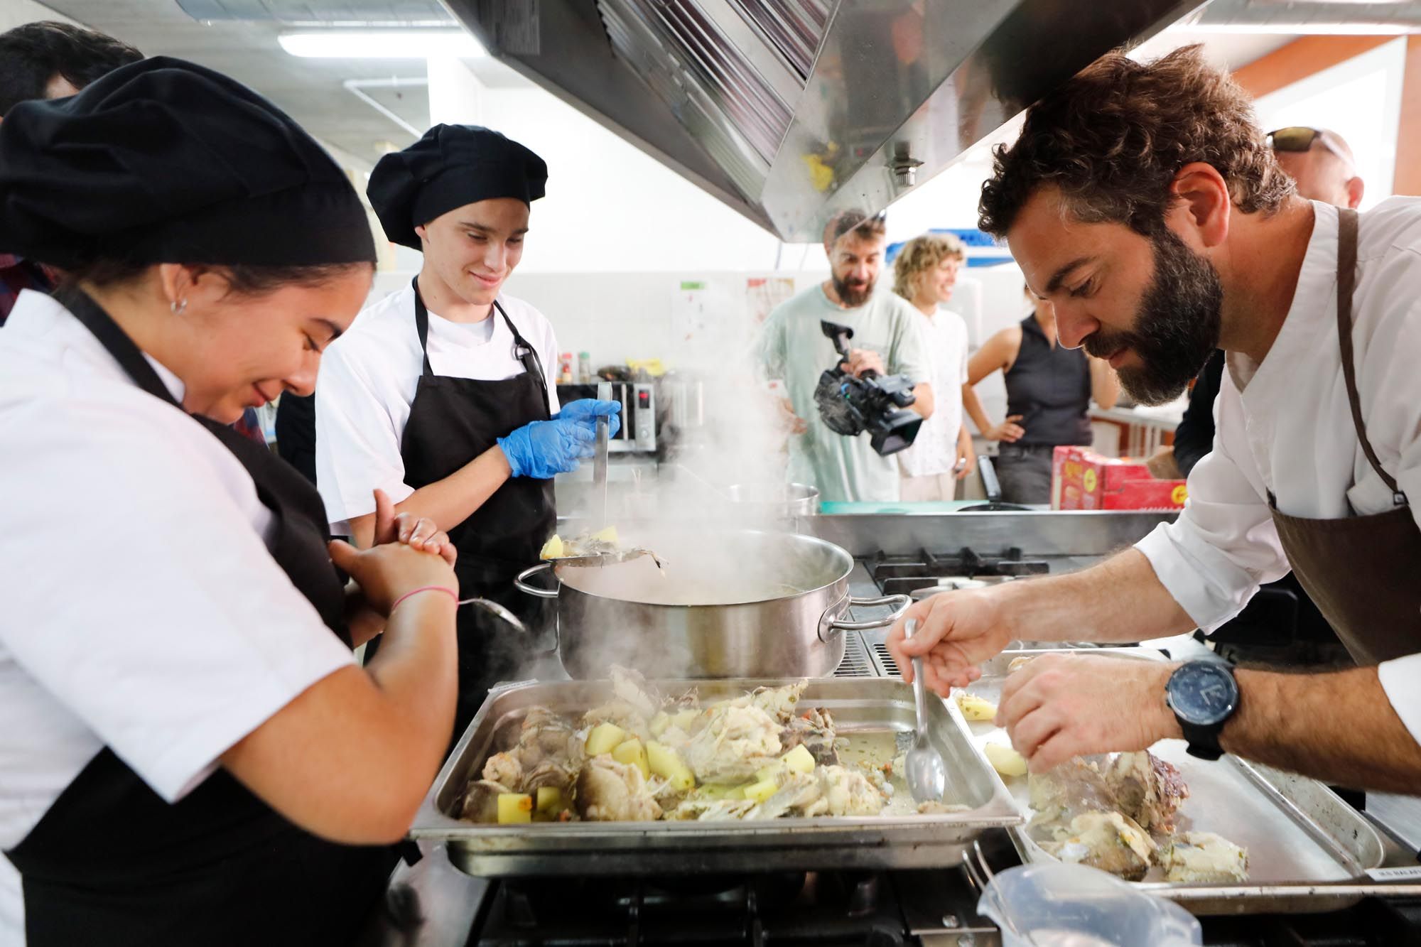
<svg viewBox="0 0 1421 947">
<path fill-rule="evenodd" d="M 948 166 L 1198 0 L 446 0 L 489 51 L 783 240 Z"/>
</svg>

